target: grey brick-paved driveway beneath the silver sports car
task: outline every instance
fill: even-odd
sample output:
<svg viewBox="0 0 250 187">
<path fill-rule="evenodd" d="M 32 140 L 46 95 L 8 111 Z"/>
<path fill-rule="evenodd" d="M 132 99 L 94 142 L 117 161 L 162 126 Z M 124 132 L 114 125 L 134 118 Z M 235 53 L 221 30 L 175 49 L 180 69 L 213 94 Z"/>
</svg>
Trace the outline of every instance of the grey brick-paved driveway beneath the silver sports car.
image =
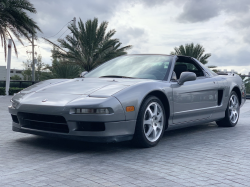
<svg viewBox="0 0 250 187">
<path fill-rule="evenodd" d="M 157 147 L 12 132 L 0 98 L 0 186 L 250 186 L 250 101 L 235 128 L 166 132 Z"/>
</svg>

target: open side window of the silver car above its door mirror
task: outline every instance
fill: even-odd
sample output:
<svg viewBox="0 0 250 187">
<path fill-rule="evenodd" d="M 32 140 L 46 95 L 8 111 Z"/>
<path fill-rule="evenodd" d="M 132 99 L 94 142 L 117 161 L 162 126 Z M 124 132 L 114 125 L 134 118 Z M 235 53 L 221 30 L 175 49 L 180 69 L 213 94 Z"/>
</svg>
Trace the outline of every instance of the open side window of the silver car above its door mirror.
<svg viewBox="0 0 250 187">
<path fill-rule="evenodd" d="M 200 66 L 188 57 L 178 57 L 175 63 L 174 72 L 177 79 L 180 78 L 182 72 L 193 72 L 197 77 L 205 76 Z"/>
</svg>

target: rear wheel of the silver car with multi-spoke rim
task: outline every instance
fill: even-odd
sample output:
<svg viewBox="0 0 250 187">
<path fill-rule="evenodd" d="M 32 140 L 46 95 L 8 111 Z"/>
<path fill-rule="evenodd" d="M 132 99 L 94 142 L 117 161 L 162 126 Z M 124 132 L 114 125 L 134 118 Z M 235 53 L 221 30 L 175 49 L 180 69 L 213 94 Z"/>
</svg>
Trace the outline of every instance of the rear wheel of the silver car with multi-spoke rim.
<svg viewBox="0 0 250 187">
<path fill-rule="evenodd" d="M 227 109 L 225 111 L 225 117 L 216 124 L 219 127 L 234 127 L 239 120 L 240 116 L 240 102 L 236 92 L 232 91 L 228 101 Z"/>
</svg>

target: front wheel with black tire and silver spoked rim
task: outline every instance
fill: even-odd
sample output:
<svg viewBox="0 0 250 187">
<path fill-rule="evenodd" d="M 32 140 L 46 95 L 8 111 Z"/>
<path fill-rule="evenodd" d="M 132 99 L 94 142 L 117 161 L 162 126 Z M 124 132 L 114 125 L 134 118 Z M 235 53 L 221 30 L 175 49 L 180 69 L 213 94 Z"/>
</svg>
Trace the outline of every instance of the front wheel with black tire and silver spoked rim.
<svg viewBox="0 0 250 187">
<path fill-rule="evenodd" d="M 160 99 L 146 97 L 137 117 L 133 144 L 143 148 L 156 146 L 164 134 L 165 124 L 165 109 Z"/>
</svg>

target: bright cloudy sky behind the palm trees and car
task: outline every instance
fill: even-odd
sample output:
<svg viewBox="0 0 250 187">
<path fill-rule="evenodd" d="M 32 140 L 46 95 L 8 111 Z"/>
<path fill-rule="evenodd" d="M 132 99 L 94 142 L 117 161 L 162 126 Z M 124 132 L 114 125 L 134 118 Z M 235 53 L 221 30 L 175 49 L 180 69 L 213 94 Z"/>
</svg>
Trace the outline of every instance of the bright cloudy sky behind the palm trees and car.
<svg viewBox="0 0 250 187">
<path fill-rule="evenodd" d="M 29 14 L 43 33 L 38 33 L 35 51 L 51 64 L 51 41 L 71 34 L 71 20 L 98 18 L 108 21 L 114 38 L 132 45 L 129 54 L 170 54 L 174 47 L 193 42 L 211 53 L 207 66 L 250 72 L 250 0 L 30 0 L 37 10 Z M 60 31 L 60 32 L 59 32 Z M 31 59 L 31 44 L 16 41 L 18 57 L 12 51 L 11 68 L 22 69 Z M 27 46 L 27 47 L 25 47 Z M 0 66 L 5 66 L 0 48 Z"/>
</svg>

